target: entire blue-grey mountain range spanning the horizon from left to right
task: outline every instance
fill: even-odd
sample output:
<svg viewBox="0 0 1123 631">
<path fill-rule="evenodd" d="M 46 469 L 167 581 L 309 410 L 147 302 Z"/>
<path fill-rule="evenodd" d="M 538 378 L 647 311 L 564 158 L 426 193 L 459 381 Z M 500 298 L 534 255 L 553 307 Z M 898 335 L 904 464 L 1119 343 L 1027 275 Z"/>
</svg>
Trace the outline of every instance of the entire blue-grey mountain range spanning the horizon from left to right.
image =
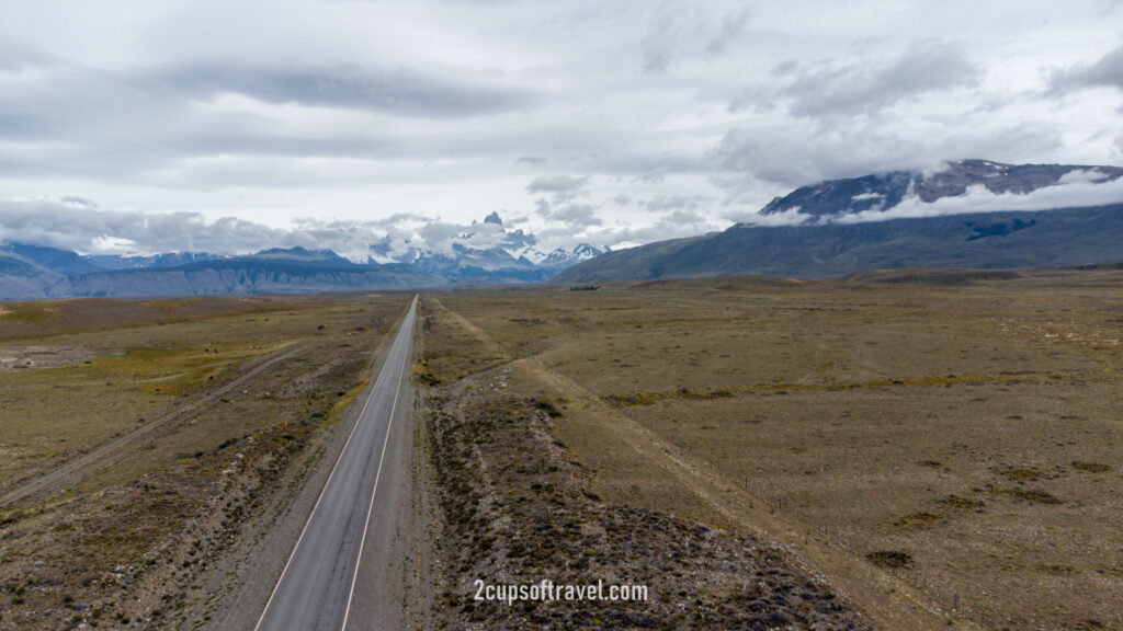
<svg viewBox="0 0 1123 631">
<path fill-rule="evenodd" d="M 0 300 L 1114 263 L 1123 260 L 1123 168 L 949 162 L 801 186 L 756 217 L 721 232 L 618 252 L 582 244 L 544 253 L 532 234 L 492 213 L 441 250 L 387 238 L 371 245 L 362 263 L 301 247 L 110 256 L 0 243 Z"/>
</svg>

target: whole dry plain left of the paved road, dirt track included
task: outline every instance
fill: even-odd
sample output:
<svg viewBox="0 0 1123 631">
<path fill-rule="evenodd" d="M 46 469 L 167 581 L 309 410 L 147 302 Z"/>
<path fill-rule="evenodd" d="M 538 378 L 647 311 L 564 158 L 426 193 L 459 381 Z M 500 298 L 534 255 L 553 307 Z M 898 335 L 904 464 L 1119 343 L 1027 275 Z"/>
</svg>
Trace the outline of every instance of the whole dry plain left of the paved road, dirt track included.
<svg viewBox="0 0 1123 631">
<path fill-rule="evenodd" d="M 4 304 L 0 629 L 198 622 L 195 577 L 314 463 L 409 299 Z"/>
</svg>

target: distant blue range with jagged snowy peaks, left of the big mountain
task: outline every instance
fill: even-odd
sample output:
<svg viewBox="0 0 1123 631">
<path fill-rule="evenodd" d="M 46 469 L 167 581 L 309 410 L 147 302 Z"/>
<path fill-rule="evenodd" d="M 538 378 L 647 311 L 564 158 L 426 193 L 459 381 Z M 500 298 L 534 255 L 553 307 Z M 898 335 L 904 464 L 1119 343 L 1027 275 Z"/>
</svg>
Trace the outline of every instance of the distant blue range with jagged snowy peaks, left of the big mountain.
<svg viewBox="0 0 1123 631">
<path fill-rule="evenodd" d="M 472 247 L 481 244 L 486 247 Z M 541 253 L 533 235 L 505 229 L 496 212 L 454 235 L 448 249 L 403 249 L 394 245 L 384 238 L 368 246 L 367 259 L 357 263 L 331 249 L 301 246 L 272 247 L 243 256 L 212 253 L 120 256 L 80 255 L 49 246 L 0 243 L 0 300 L 541 282 L 604 252 L 579 244 Z"/>
</svg>

